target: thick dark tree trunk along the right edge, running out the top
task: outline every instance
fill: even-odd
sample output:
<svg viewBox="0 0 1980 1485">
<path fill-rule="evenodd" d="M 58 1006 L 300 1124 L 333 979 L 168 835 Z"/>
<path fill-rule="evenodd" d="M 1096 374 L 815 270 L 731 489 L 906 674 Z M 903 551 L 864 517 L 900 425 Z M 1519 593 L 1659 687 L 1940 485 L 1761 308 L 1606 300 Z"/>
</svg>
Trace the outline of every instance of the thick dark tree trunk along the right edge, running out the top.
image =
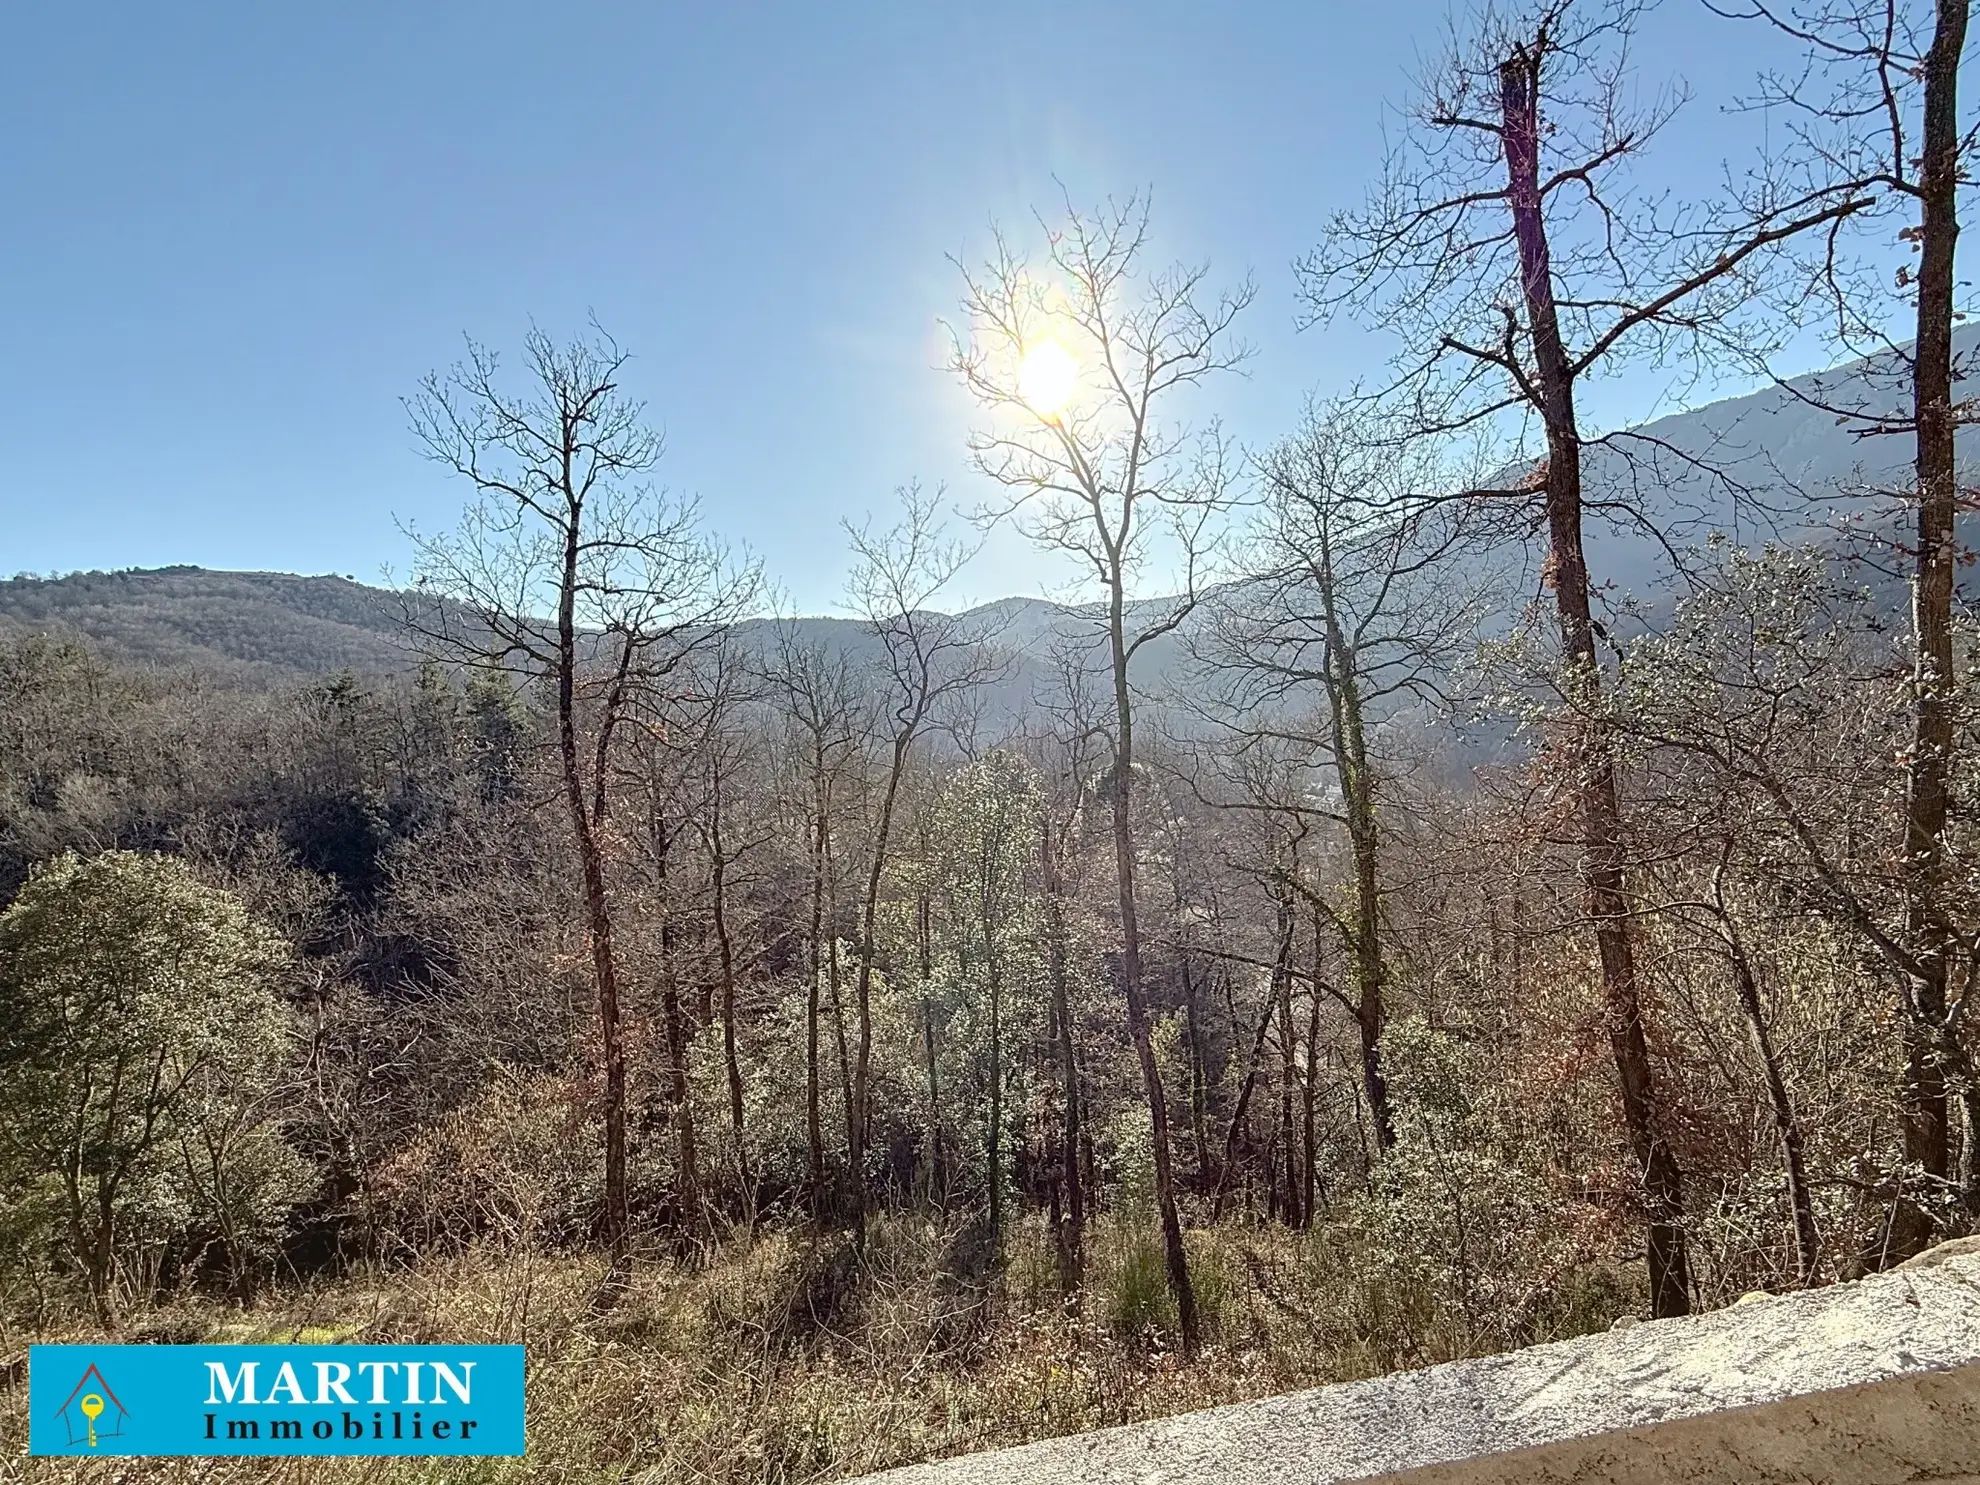
<svg viewBox="0 0 1980 1485">
<path fill-rule="evenodd" d="M 1944 1190 L 1952 1172 L 1946 1067 L 1940 1028 L 1952 931 L 1946 925 L 1946 814 L 1952 778 L 1952 568 L 1954 430 L 1952 315 L 1958 242 L 1960 117 L 1958 69 L 1966 48 L 1966 0 L 1938 0 L 1932 50 L 1925 59 L 1923 148 L 1919 152 L 1919 321 L 1913 348 L 1919 537 L 1913 580 L 1913 742 L 1905 800 L 1905 937 L 1919 974 L 1911 976 L 1905 1028 L 1905 1160 Z M 1936 1204 L 1934 1204 L 1936 1206 Z M 1907 1202 L 1893 1224 L 1893 1259 L 1923 1249 L 1936 1220 Z"/>
</svg>

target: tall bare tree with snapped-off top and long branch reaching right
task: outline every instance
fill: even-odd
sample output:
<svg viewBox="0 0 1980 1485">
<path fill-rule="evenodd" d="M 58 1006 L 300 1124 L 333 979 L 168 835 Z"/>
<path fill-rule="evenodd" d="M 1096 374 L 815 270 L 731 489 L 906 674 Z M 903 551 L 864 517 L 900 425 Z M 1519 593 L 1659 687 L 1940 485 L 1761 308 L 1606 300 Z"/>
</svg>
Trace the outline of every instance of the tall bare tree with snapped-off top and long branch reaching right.
<svg viewBox="0 0 1980 1485">
<path fill-rule="evenodd" d="M 1576 390 L 1626 356 L 1703 370 L 1729 341 L 1752 348 L 1770 323 L 1746 311 L 1804 234 L 1867 206 L 1851 190 L 1784 188 L 1756 174 L 1742 196 L 1673 206 L 1632 192 L 1628 164 L 1677 99 L 1628 99 L 1634 0 L 1548 0 L 1489 14 L 1428 89 L 1418 127 L 1366 208 L 1331 224 L 1303 265 L 1317 317 L 1370 313 L 1408 337 L 1398 388 L 1434 430 L 1507 414 L 1544 434 L 1517 489 L 1538 501 L 1544 582 L 1564 659 L 1568 746 L 1582 822 L 1588 919 L 1622 1085 L 1643 1168 L 1649 1285 L 1657 1315 L 1691 1307 L 1683 1172 L 1663 1129 L 1630 940 L 1626 832 L 1616 760 L 1600 721 L 1600 624 L 1584 548 L 1590 495 Z M 1612 447 L 1628 444 L 1612 436 Z M 1483 491 L 1481 491 L 1483 493 Z M 1596 507 L 1661 539 L 1655 513 L 1600 491 Z"/>
</svg>

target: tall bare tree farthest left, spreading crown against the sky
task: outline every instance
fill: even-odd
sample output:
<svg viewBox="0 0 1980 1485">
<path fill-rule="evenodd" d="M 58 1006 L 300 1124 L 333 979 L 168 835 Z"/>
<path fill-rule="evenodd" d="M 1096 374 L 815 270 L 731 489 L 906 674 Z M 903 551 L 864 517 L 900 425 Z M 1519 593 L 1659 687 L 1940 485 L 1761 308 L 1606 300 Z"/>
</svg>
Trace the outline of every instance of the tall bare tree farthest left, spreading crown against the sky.
<svg viewBox="0 0 1980 1485">
<path fill-rule="evenodd" d="M 616 744 L 642 695 L 754 592 L 754 572 L 701 533 L 695 505 L 647 483 L 661 442 L 620 386 L 626 360 L 596 325 L 568 345 L 531 331 L 511 384 L 497 354 L 469 341 L 465 360 L 408 402 L 426 453 L 471 487 L 457 531 L 412 535 L 422 602 L 410 622 L 436 655 L 554 697 L 598 994 L 612 1283 L 630 1245 L 626 1032 L 606 889 Z"/>
</svg>

